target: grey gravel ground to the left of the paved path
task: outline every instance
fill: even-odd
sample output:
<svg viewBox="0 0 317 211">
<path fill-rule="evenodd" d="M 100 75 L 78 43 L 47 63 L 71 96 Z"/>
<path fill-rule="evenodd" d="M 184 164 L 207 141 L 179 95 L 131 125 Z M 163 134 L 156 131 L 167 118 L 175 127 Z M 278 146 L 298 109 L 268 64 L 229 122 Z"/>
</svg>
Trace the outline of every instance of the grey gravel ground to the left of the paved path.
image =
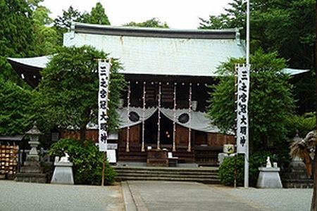
<svg viewBox="0 0 317 211">
<path fill-rule="evenodd" d="M 0 180 L 0 210 L 125 210 L 120 184 L 70 186 Z"/>
</svg>

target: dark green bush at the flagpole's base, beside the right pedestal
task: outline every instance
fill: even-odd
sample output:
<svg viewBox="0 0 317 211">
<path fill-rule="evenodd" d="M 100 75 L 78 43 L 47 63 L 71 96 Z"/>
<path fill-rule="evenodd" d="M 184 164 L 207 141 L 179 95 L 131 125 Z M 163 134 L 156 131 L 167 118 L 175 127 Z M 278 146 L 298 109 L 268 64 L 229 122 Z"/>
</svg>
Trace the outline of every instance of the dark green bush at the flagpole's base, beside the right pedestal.
<svg viewBox="0 0 317 211">
<path fill-rule="evenodd" d="M 262 151 L 253 153 L 249 157 L 249 185 L 256 186 L 259 177 L 258 168 L 266 166 L 266 158 L 270 156 L 271 162 L 276 158 L 270 152 Z M 219 167 L 219 179 L 222 184 L 232 186 L 235 181 L 235 157 L 225 158 Z M 244 184 L 244 155 L 237 156 L 237 186 Z"/>
</svg>

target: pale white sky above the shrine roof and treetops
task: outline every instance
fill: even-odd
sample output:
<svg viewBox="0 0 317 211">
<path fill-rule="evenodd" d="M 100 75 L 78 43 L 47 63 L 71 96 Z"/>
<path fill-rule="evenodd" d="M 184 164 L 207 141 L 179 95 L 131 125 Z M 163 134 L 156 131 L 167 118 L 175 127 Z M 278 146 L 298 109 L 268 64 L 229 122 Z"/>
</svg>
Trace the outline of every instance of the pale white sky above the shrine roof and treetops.
<svg viewBox="0 0 317 211">
<path fill-rule="evenodd" d="M 208 19 L 209 15 L 223 13 L 223 8 L 228 7 L 232 0 L 44 0 L 42 5 L 49 8 L 51 18 L 56 18 L 69 6 L 81 12 L 90 12 L 98 1 L 114 26 L 159 18 L 170 28 L 196 29 L 199 18 Z"/>
</svg>

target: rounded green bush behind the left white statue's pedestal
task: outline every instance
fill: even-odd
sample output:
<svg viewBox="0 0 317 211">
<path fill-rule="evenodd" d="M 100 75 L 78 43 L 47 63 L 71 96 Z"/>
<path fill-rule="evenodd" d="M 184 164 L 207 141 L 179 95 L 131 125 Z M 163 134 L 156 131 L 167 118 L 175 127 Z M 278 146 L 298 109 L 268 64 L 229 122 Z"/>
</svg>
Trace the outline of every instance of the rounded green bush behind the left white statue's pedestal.
<svg viewBox="0 0 317 211">
<path fill-rule="evenodd" d="M 101 184 L 103 153 L 92 141 L 80 142 L 75 139 L 61 139 L 49 149 L 51 156 L 64 156 L 68 153 L 73 162 L 75 184 Z M 104 184 L 113 184 L 116 172 L 106 162 Z"/>
</svg>

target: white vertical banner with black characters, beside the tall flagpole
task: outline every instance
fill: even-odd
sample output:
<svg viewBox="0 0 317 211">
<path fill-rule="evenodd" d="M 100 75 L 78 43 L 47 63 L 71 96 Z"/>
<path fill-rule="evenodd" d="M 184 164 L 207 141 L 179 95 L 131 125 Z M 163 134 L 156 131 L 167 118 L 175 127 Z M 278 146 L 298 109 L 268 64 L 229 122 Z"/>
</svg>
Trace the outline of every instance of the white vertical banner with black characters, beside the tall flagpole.
<svg viewBox="0 0 317 211">
<path fill-rule="evenodd" d="M 248 65 L 249 67 L 249 65 Z M 249 140 L 249 68 L 237 68 L 237 153 L 248 153 Z"/>
</svg>

